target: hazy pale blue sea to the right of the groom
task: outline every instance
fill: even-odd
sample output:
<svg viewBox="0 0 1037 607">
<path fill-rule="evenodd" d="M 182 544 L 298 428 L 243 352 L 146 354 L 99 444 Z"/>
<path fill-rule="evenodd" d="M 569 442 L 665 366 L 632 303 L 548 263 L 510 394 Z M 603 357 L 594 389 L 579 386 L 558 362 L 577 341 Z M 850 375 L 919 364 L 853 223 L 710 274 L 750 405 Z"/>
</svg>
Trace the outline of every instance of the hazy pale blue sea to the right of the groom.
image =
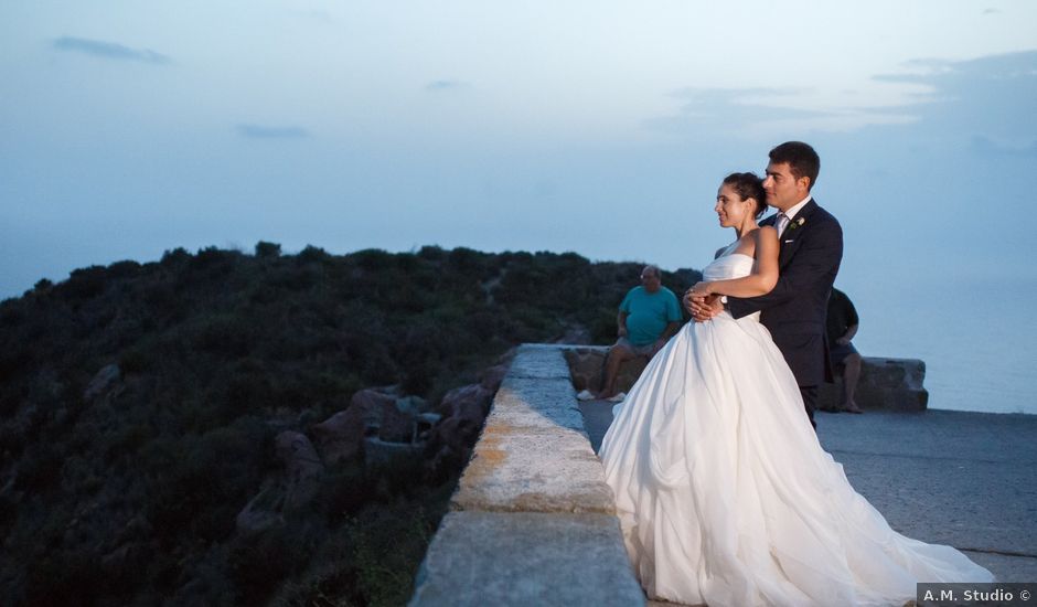
<svg viewBox="0 0 1037 607">
<path fill-rule="evenodd" d="M 854 344 L 862 355 L 926 362 L 929 408 L 1037 415 L 1030 285 L 947 278 L 843 290 L 860 316 Z"/>
</svg>

